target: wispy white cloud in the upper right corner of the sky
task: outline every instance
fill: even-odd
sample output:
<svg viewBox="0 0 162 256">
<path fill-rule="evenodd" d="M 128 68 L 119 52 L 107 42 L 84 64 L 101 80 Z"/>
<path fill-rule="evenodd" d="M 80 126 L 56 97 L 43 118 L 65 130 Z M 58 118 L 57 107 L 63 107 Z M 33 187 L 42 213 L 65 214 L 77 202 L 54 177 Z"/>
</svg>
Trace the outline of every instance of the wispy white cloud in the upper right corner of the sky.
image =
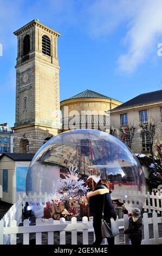
<svg viewBox="0 0 162 256">
<path fill-rule="evenodd" d="M 147 59 L 162 35 L 162 1 L 147 0 L 135 15 L 125 39 L 128 52 L 119 57 L 119 69 L 132 72 Z"/>
</svg>

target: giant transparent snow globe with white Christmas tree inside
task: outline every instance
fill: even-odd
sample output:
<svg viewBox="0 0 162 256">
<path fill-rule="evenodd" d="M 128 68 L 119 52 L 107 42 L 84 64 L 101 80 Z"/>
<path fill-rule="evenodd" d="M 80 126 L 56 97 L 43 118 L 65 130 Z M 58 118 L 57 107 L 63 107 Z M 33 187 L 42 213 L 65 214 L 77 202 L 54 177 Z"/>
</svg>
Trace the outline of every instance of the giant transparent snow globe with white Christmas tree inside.
<svg viewBox="0 0 162 256">
<path fill-rule="evenodd" d="M 86 195 L 100 179 L 109 181 L 119 218 L 132 207 L 142 209 L 145 176 L 124 143 L 98 130 L 61 133 L 44 144 L 30 164 L 26 180 L 30 208 L 37 218 L 90 219 Z"/>
</svg>

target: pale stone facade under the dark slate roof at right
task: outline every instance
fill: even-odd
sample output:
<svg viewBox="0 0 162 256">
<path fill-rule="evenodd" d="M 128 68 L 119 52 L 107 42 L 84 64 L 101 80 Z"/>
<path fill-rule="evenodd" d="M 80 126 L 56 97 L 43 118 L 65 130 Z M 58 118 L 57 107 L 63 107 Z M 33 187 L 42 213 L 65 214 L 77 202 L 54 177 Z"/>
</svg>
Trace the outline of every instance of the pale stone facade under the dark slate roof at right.
<svg viewBox="0 0 162 256">
<path fill-rule="evenodd" d="M 147 112 L 147 121 L 145 123 L 141 123 L 140 121 L 140 112 L 146 111 Z M 127 114 L 128 123 L 127 125 L 121 124 L 121 115 Z M 154 145 L 157 141 L 157 138 L 159 142 L 162 143 L 161 138 L 161 131 L 162 131 L 162 122 L 161 122 L 161 116 L 162 114 L 162 101 L 155 101 L 155 102 L 148 102 L 144 104 L 138 104 L 136 106 L 130 106 L 130 107 L 123 107 L 123 108 L 114 108 L 111 111 L 111 130 L 114 132 L 114 136 L 117 138 L 123 139 L 123 142 L 125 142 L 127 145 L 129 143 L 129 136 L 127 136 L 127 132 L 125 132 L 126 136 L 121 132 L 126 131 L 127 127 L 130 129 L 134 128 L 134 136 L 131 142 L 131 149 L 134 153 L 151 153 L 150 151 L 150 135 L 147 138 L 148 133 L 152 132 L 150 129 L 150 125 L 154 125 L 155 131 L 154 136 L 152 137 L 153 145 L 152 150 L 153 154 L 157 154 L 157 151 L 154 148 Z M 146 139 L 141 136 L 141 133 L 144 131 L 141 127 L 145 127 L 145 129 L 148 127 L 148 131 L 146 131 Z M 145 149 L 146 148 L 146 149 Z M 148 150 L 147 150 L 148 148 Z"/>
</svg>

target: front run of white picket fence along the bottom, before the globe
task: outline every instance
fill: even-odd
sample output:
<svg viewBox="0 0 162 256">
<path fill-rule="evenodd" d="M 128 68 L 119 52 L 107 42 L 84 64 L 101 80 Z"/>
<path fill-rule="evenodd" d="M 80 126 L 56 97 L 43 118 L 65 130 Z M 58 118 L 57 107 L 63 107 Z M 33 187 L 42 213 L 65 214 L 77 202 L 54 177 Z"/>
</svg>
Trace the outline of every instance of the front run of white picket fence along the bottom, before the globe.
<svg viewBox="0 0 162 256">
<path fill-rule="evenodd" d="M 143 245 L 159 245 L 162 243 L 162 237 L 159 237 L 158 223 L 162 223 L 162 217 L 157 217 L 157 213 L 153 212 L 153 217 L 148 218 L 148 214 L 145 213 L 143 216 L 144 225 L 144 240 L 142 240 Z M 118 227 L 124 225 L 124 229 L 128 227 L 128 216 L 125 215 L 124 219 L 116 220 Z M 150 239 L 148 225 L 153 224 L 153 234 L 154 237 Z M 54 245 L 54 232 L 60 232 L 60 245 L 66 245 L 66 232 L 72 233 L 72 245 L 77 245 L 77 232 L 82 233 L 82 243 L 83 245 L 89 244 L 88 231 L 93 232 L 92 222 L 88 222 L 87 217 L 83 217 L 82 222 L 77 222 L 76 218 L 73 217 L 71 222 L 66 222 L 64 218 L 60 221 L 55 221 L 49 219 L 46 223 L 43 223 L 41 219 L 36 220 L 36 225 L 29 226 L 29 220 L 23 222 L 22 227 L 17 227 L 17 221 L 11 221 L 10 227 L 5 227 L 3 229 L 4 236 L 10 236 L 10 244 L 16 245 L 17 234 L 23 234 L 23 245 L 29 245 L 29 234 L 35 233 L 36 245 L 42 245 L 42 233 L 48 233 L 48 245 Z M 95 238 L 95 237 L 94 237 Z M 91 241 L 92 242 L 92 241 Z M 106 240 L 105 240 L 106 243 Z M 129 239 L 127 235 L 124 235 L 124 241 L 119 241 L 119 235 L 115 236 L 115 245 L 126 245 L 129 244 Z"/>
</svg>

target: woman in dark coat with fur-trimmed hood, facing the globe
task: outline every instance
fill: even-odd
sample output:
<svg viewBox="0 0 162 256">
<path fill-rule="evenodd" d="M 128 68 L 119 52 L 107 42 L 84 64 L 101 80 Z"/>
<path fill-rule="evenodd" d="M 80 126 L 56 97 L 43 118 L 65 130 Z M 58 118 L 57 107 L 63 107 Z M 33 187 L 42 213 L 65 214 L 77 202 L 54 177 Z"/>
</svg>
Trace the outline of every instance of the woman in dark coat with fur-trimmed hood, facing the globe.
<svg viewBox="0 0 162 256">
<path fill-rule="evenodd" d="M 105 197 L 104 197 L 105 196 Z M 101 232 L 101 220 L 102 220 L 102 209 L 103 199 L 105 198 L 105 209 L 103 213 L 104 219 L 109 223 L 110 218 L 113 217 L 116 220 L 115 210 L 111 196 L 109 194 L 109 183 L 107 180 L 101 179 L 96 185 L 93 192 L 87 194 L 90 200 L 90 212 L 93 215 L 93 227 L 95 233 L 95 242 L 93 245 L 100 245 L 102 242 Z M 107 238 L 108 245 L 114 245 L 114 237 Z"/>
</svg>

